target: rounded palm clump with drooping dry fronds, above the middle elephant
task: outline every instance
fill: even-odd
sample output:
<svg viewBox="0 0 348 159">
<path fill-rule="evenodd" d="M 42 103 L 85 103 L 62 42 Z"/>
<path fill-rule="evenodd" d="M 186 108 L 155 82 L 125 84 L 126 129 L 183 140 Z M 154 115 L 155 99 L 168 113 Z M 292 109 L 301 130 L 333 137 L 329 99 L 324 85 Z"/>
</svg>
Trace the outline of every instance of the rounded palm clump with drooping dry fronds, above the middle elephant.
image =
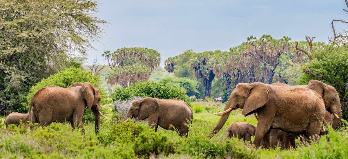
<svg viewBox="0 0 348 159">
<path fill-rule="evenodd" d="M 129 87 L 131 83 L 148 80 L 160 62 L 160 54 L 148 48 L 121 48 L 111 55 L 114 72 L 106 76 L 111 86 Z"/>
</svg>

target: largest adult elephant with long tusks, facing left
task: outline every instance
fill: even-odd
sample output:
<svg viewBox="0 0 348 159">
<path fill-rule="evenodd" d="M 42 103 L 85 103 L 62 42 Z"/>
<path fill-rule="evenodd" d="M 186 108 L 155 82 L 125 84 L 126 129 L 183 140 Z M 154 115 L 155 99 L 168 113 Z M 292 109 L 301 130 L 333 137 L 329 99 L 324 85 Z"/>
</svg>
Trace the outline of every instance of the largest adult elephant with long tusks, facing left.
<svg viewBox="0 0 348 159">
<path fill-rule="evenodd" d="M 286 132 L 304 133 L 316 137 L 325 117 L 325 104 L 321 95 L 310 89 L 284 90 L 264 83 L 239 83 L 231 93 L 223 112 L 214 113 L 221 118 L 210 136 L 220 131 L 231 110 L 242 108 L 244 116 L 259 114 L 254 144 L 261 140 L 270 128 Z"/>
</svg>

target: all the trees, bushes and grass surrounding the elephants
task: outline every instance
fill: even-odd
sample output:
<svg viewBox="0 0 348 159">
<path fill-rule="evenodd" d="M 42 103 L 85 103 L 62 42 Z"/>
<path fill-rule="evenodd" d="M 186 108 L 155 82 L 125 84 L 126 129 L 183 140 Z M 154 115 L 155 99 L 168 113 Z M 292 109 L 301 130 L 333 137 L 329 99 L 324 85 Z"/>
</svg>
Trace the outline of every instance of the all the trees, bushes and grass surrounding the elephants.
<svg viewBox="0 0 348 159">
<path fill-rule="evenodd" d="M 347 2 L 347 1 L 346 1 Z M 347 2 L 348 5 L 348 2 Z M 347 6 L 348 7 L 348 6 Z M 241 110 L 231 112 L 225 126 L 212 138 L 209 133 L 220 117 L 230 93 L 238 83 L 275 82 L 288 85 L 319 80 L 337 90 L 343 119 L 348 118 L 347 31 L 336 33 L 329 42 L 291 41 L 290 37 L 250 36 L 229 50 L 192 49 L 165 60 L 150 48 L 119 48 L 100 54 L 86 64 L 92 41 L 100 39 L 106 21 L 95 16 L 93 0 L 0 0 L 0 158 L 345 158 L 348 156 L 347 122 L 321 137 L 318 142 L 296 149 L 254 148 L 226 136 L 231 122 L 257 124 L 254 116 Z M 85 134 L 71 124 L 47 127 L 32 124 L 6 127 L 13 111 L 26 113 L 39 89 L 68 87 L 89 82 L 101 93 L 100 133 L 95 133 L 93 112 L 86 108 Z M 158 128 L 147 120 L 123 122 L 130 103 L 145 97 L 181 99 L 193 112 L 187 138 Z M 190 99 L 190 97 L 192 99 Z M 219 102 L 214 98 L 221 97 Z M 329 141 L 326 137 L 330 138 Z"/>
</svg>

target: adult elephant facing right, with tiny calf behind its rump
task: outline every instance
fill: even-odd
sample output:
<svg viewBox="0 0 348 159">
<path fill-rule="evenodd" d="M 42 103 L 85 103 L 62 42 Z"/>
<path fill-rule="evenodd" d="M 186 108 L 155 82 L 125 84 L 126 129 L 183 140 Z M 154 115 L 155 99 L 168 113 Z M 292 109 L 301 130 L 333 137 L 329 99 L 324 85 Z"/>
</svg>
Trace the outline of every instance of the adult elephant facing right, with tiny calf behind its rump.
<svg viewBox="0 0 348 159">
<path fill-rule="evenodd" d="M 82 118 L 85 108 L 88 107 L 94 114 L 95 132 L 99 132 L 100 116 L 100 91 L 92 84 L 85 82 L 70 88 L 59 86 L 46 86 L 38 90 L 29 106 L 33 107 L 32 123 L 41 126 L 50 125 L 52 122 L 70 121 L 72 128 L 78 126 L 85 133 Z"/>
</svg>

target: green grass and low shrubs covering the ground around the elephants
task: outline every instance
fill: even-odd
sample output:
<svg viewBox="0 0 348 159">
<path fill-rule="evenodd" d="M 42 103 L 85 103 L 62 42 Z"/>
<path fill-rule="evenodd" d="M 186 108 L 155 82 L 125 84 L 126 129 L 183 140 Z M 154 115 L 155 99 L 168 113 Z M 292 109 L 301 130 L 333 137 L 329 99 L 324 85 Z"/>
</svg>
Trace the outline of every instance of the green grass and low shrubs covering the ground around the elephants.
<svg viewBox="0 0 348 159">
<path fill-rule="evenodd" d="M 108 109 L 107 115 L 113 116 L 111 108 Z M 244 117 L 240 110 L 231 112 L 221 131 L 209 139 L 208 134 L 220 119 L 213 112 L 223 110 L 222 104 L 193 102 L 192 109 L 195 113 L 187 139 L 160 127 L 155 133 L 145 122 L 102 119 L 98 135 L 94 132 L 94 123 L 85 123 L 86 134 L 81 136 L 79 130 L 71 130 L 69 123 L 33 130 L 6 128 L 5 117 L 1 117 L 0 158 L 342 158 L 348 155 L 345 128 L 331 131 L 330 142 L 322 137 L 320 142 L 299 145 L 296 150 L 256 149 L 226 136 L 231 122 L 257 124 L 254 116 Z"/>
</svg>

